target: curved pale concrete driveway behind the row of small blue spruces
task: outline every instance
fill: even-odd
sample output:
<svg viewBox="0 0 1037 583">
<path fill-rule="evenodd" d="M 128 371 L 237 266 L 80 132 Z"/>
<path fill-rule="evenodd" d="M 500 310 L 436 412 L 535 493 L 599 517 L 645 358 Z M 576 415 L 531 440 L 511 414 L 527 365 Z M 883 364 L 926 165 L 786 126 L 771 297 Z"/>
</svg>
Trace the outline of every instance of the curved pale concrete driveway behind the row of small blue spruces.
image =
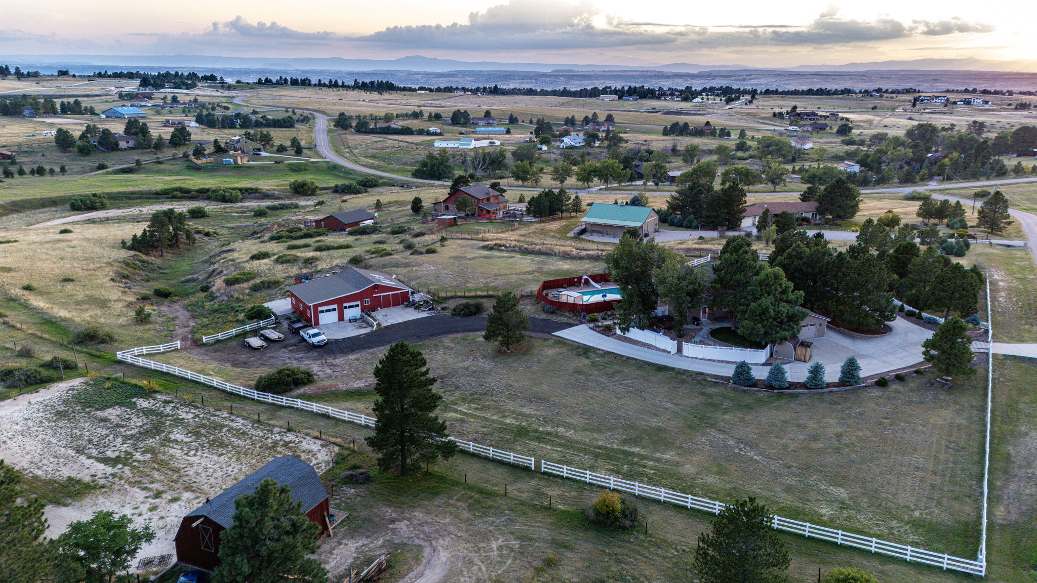
<svg viewBox="0 0 1037 583">
<path fill-rule="evenodd" d="M 850 356 L 856 356 L 861 364 L 862 377 L 880 374 L 922 362 L 922 342 L 928 339 L 932 333 L 900 317 L 896 322 L 891 322 L 890 327 L 893 329 L 890 334 L 871 339 L 850 338 L 829 329 L 823 338 L 811 340 L 814 345 L 810 362 L 785 364 L 789 380 L 796 382 L 805 380 L 810 365 L 814 362 L 820 362 L 825 367 L 825 380 L 834 383 L 839 379 L 840 365 Z M 600 351 L 673 368 L 721 377 L 730 377 L 734 372 L 734 364 L 688 358 L 679 354 L 671 355 L 646 349 L 598 334 L 583 325 L 555 332 L 554 335 Z M 1037 354 L 1037 345 L 1035 345 L 1035 354 Z M 768 368 L 767 365 L 753 366 L 753 374 L 757 379 L 762 379 L 766 377 Z"/>
</svg>

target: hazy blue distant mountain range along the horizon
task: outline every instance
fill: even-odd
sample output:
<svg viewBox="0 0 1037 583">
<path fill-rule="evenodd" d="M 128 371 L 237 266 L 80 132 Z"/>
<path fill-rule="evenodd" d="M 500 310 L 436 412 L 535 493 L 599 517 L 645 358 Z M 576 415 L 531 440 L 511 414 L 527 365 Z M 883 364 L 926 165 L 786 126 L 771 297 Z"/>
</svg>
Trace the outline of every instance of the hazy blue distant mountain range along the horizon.
<svg viewBox="0 0 1037 583">
<path fill-rule="evenodd" d="M 292 71 L 414 71 L 445 73 L 451 71 L 521 71 L 542 73 L 653 71 L 670 73 L 702 73 L 717 71 L 792 71 L 792 72 L 862 72 L 862 71 L 977 71 L 1037 73 L 1037 60 L 1017 59 L 996 61 L 965 59 L 915 59 L 853 62 L 844 64 L 811 64 L 787 67 L 749 66 L 745 64 L 667 63 L 660 65 L 577 64 L 537 62 L 461 61 L 436 57 L 409 56 L 396 59 L 346 59 L 341 57 L 228 57 L 209 55 L 2 55 L 0 61 L 24 66 L 51 65 L 63 67 L 233 67 L 242 70 Z M 92 73 L 92 71 L 89 71 Z M 87 73 L 82 71 L 81 73 Z"/>
</svg>

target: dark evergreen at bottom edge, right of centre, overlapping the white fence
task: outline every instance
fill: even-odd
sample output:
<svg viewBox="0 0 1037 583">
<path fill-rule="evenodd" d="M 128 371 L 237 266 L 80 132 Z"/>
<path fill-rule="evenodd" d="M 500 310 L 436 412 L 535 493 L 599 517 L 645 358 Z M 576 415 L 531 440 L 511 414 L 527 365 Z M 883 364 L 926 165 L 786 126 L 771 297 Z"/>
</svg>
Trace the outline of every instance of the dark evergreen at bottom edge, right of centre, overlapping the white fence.
<svg viewBox="0 0 1037 583">
<path fill-rule="evenodd" d="M 774 517 L 756 499 L 721 510 L 710 532 L 699 535 L 694 570 L 700 583 L 779 583 L 789 558 L 772 526 Z"/>
</svg>

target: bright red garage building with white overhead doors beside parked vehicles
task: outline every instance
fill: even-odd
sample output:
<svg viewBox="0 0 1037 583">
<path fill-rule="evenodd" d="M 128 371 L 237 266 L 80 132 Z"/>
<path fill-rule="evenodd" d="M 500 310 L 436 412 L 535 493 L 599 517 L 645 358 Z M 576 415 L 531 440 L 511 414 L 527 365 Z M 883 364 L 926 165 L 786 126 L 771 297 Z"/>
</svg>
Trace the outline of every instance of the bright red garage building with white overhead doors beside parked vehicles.
<svg viewBox="0 0 1037 583">
<path fill-rule="evenodd" d="M 297 281 L 301 281 L 299 277 Z M 313 326 L 347 322 L 360 312 L 403 305 L 411 288 L 392 276 L 348 268 L 288 287 L 291 309 Z"/>
</svg>

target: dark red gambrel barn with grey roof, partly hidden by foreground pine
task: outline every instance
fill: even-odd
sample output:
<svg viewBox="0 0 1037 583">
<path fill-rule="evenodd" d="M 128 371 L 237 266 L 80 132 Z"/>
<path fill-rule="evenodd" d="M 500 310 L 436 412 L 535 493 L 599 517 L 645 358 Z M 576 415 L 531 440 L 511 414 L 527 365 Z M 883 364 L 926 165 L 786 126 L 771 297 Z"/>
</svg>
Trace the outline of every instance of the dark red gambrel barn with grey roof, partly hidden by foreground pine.
<svg viewBox="0 0 1037 583">
<path fill-rule="evenodd" d="M 313 466 L 299 457 L 283 455 L 271 460 L 184 517 L 176 531 L 176 562 L 214 571 L 220 564 L 220 534 L 234 524 L 234 500 L 255 492 L 264 479 L 289 487 L 292 502 L 300 505 L 310 522 L 320 527 L 320 535 L 331 533 L 331 506 L 320 476 Z"/>
</svg>

